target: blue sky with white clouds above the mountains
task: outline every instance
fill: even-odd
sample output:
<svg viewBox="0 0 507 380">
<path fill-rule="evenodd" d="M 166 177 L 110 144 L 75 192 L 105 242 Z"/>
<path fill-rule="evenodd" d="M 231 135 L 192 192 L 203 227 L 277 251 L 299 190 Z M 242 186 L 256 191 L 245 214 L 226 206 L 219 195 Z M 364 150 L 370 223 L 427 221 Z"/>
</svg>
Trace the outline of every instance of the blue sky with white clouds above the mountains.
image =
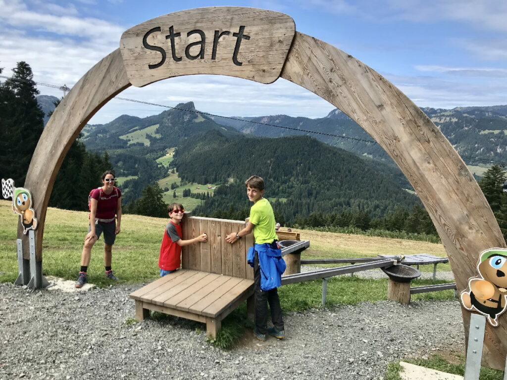
<svg viewBox="0 0 507 380">
<path fill-rule="evenodd" d="M 363 61 L 421 107 L 507 104 L 504 0 L 0 0 L 0 67 L 3 75 L 11 75 L 16 62 L 24 60 L 36 82 L 71 87 L 118 48 L 124 30 L 163 14 L 209 6 L 286 13 L 296 30 Z M 39 90 L 62 95 L 49 87 Z M 197 109 L 224 116 L 318 118 L 334 108 L 283 79 L 262 85 L 217 75 L 169 79 L 119 96 L 169 106 L 194 101 Z M 90 122 L 162 110 L 113 99 Z"/>
</svg>

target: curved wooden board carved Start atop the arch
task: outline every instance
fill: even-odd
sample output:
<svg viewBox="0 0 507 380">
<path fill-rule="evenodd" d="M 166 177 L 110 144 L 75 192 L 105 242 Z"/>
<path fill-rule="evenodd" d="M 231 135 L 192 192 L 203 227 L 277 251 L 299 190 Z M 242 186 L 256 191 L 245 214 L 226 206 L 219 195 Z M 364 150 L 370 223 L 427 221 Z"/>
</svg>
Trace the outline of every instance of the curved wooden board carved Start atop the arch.
<svg viewBox="0 0 507 380">
<path fill-rule="evenodd" d="M 237 34 L 241 27 L 242 37 Z M 220 38 L 215 37 L 215 31 Z M 207 7 L 136 25 L 122 34 L 120 49 L 130 83 L 137 87 L 190 74 L 222 74 L 272 83 L 280 75 L 294 32 L 294 20 L 283 13 Z"/>
</svg>

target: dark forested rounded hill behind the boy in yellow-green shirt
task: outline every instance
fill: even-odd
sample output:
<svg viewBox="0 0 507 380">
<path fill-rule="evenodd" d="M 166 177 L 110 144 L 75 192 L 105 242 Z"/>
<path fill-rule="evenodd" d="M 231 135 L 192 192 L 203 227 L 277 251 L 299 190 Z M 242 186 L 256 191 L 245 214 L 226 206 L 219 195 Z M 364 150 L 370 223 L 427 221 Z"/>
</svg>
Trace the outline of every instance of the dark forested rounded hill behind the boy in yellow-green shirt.
<svg viewBox="0 0 507 380">
<path fill-rule="evenodd" d="M 223 183 L 195 209 L 208 216 L 244 218 L 251 205 L 243 182 L 252 174 L 265 178 L 265 196 L 273 201 L 278 220 L 287 223 L 297 215 L 350 209 L 380 217 L 419 203 L 392 176 L 307 136 L 231 140 L 210 131 L 180 145 L 172 165 L 187 181 Z"/>
</svg>

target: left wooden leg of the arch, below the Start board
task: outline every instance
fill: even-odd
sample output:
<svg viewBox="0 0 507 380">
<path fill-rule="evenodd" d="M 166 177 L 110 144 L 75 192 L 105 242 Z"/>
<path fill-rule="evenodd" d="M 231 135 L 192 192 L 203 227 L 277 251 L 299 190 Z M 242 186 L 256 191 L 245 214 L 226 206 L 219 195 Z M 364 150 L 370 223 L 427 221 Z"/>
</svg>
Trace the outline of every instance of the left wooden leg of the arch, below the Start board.
<svg viewBox="0 0 507 380">
<path fill-rule="evenodd" d="M 42 260 L 44 222 L 49 197 L 58 170 L 70 145 L 93 115 L 116 94 L 130 86 L 117 49 L 93 66 L 63 98 L 44 128 L 26 174 L 24 183 L 33 199 L 33 209 L 39 219 L 35 230 L 35 255 Z M 99 175 L 99 173 L 97 173 Z M 86 234 L 86 231 L 83 231 Z M 84 235 L 83 235 L 84 236 Z M 18 225 L 18 239 L 23 241 L 23 257 L 29 259 L 28 235 Z"/>
</svg>

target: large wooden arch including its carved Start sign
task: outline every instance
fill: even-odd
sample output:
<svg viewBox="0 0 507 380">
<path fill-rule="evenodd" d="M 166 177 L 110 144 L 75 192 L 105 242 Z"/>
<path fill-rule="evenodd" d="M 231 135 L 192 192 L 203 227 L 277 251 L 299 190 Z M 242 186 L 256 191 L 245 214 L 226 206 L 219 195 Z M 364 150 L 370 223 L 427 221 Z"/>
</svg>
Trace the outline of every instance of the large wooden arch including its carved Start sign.
<svg viewBox="0 0 507 380">
<path fill-rule="evenodd" d="M 480 187 L 456 150 L 419 107 L 382 75 L 349 54 L 295 31 L 287 15 L 211 7 L 161 16 L 127 30 L 120 49 L 93 66 L 57 107 L 34 151 L 25 182 L 40 222 L 35 231 L 39 261 L 56 175 L 70 145 L 95 112 L 131 84 L 144 86 L 202 73 L 261 83 L 284 78 L 329 101 L 364 128 L 401 168 L 426 207 L 447 251 L 458 291 L 477 275 L 480 252 L 506 246 Z M 20 229 L 18 238 L 26 239 Z M 468 336 L 469 312 L 462 308 L 462 313 Z M 504 368 L 506 316 L 499 317 L 499 327 L 486 326 L 483 364 L 492 368 Z"/>
</svg>

